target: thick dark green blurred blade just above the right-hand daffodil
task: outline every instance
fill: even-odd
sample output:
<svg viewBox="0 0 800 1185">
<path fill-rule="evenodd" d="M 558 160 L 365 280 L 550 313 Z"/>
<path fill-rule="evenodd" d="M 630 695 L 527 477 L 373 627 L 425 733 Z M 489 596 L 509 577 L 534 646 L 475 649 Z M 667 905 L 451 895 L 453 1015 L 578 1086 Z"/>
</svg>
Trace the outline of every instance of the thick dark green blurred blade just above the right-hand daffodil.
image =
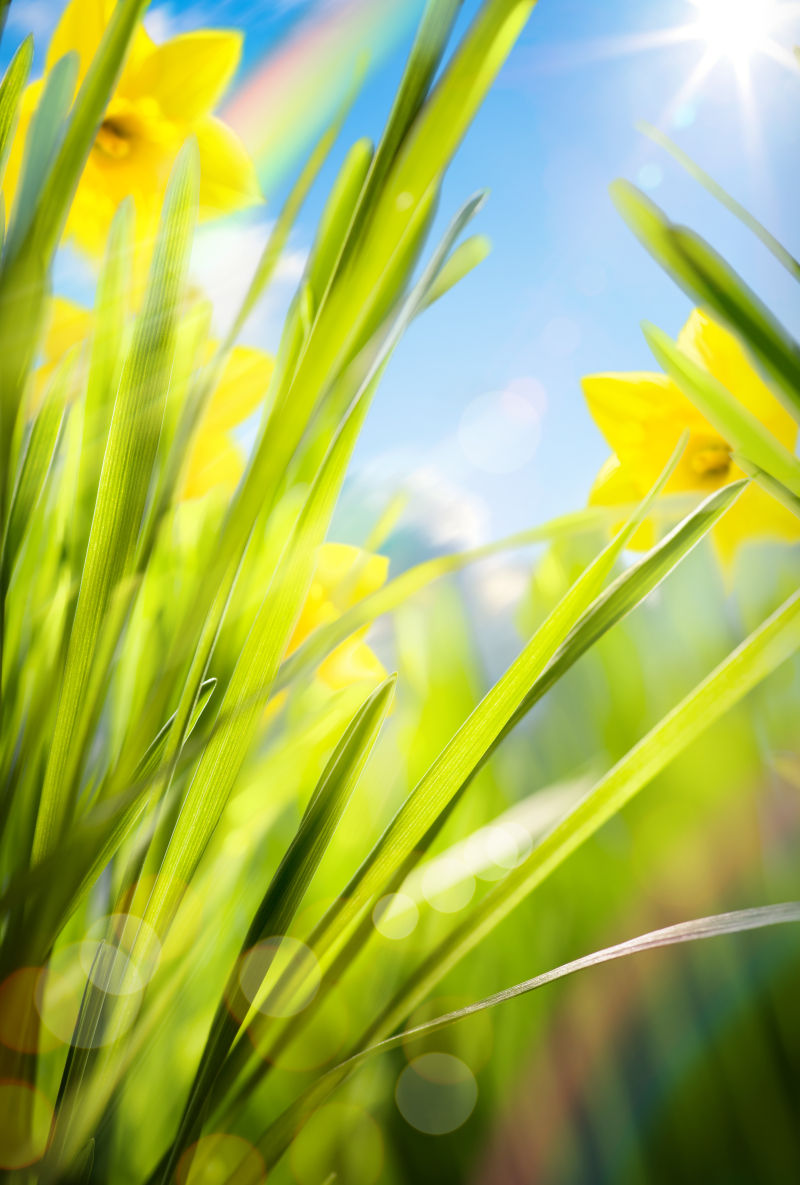
<svg viewBox="0 0 800 1185">
<path fill-rule="evenodd" d="M 787 410 L 800 417 L 800 346 L 788 331 L 722 256 L 693 231 L 671 223 L 635 186 L 615 181 L 612 197 L 655 261 L 741 338 L 773 379 Z"/>
</svg>

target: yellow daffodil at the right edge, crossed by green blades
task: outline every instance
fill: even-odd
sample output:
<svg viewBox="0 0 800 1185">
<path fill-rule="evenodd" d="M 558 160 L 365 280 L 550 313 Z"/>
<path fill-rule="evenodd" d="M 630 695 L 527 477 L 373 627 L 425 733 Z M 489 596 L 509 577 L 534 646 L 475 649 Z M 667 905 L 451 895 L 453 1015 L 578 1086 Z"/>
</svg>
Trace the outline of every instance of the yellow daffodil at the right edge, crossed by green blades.
<svg viewBox="0 0 800 1185">
<path fill-rule="evenodd" d="M 796 423 L 756 373 L 736 338 L 696 309 L 678 345 L 794 450 Z M 665 493 L 710 494 L 744 476 L 731 460 L 728 442 L 665 374 L 593 374 L 584 378 L 583 392 L 595 423 L 614 450 L 591 489 L 593 505 L 640 501 L 685 430 L 689 443 Z M 744 539 L 760 536 L 798 539 L 800 520 L 754 483 L 713 529 L 712 540 L 728 566 Z M 632 546 L 646 549 L 653 542 L 653 525 L 645 523 Z"/>
</svg>

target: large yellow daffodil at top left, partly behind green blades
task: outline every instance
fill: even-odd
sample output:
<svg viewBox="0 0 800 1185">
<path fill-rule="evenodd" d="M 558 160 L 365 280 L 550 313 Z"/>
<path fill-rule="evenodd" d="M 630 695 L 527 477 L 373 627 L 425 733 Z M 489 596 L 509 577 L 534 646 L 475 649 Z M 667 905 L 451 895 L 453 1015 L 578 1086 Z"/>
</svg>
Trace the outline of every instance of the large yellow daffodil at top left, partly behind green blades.
<svg viewBox="0 0 800 1185">
<path fill-rule="evenodd" d="M 45 75 L 65 53 L 75 51 L 79 83 L 113 8 L 114 0 L 70 0 L 50 41 Z M 190 135 L 197 137 L 200 155 L 201 218 L 261 200 L 242 143 L 211 115 L 233 76 L 241 50 L 242 38 L 235 32 L 203 30 L 155 45 L 142 26 L 137 28 L 66 224 L 66 235 L 82 250 L 102 254 L 114 212 L 128 194 L 136 209 L 137 242 L 152 242 L 169 171 Z M 24 134 L 41 89 L 40 79 L 23 96 L 4 185 L 7 210 L 19 179 Z"/>
</svg>

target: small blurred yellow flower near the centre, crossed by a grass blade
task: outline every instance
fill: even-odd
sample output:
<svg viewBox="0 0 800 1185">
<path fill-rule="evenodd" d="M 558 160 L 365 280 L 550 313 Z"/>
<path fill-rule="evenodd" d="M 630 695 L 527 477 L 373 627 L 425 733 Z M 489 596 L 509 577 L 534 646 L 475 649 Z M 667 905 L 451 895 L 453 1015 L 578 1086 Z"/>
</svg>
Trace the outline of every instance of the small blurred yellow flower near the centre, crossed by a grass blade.
<svg viewBox="0 0 800 1185">
<path fill-rule="evenodd" d="M 301 646 L 319 626 L 340 617 L 358 601 L 370 596 L 386 581 L 389 559 L 344 543 L 326 543 L 316 555 L 314 579 L 295 627 L 288 654 Z M 338 646 L 318 670 L 318 677 L 332 691 L 350 684 L 378 684 L 386 672 L 364 641 L 366 628 Z"/>
</svg>

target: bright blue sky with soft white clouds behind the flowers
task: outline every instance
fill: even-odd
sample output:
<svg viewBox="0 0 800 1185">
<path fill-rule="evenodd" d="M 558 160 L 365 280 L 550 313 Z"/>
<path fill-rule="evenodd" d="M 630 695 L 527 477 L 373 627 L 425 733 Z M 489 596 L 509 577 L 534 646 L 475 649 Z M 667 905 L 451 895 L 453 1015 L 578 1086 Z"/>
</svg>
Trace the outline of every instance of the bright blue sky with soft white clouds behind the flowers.
<svg viewBox="0 0 800 1185">
<path fill-rule="evenodd" d="M 247 75 L 282 38 L 337 2 L 172 4 L 158 7 L 152 21 L 165 32 L 243 27 Z M 476 7 L 467 0 L 462 25 Z M 408 34 L 367 81 L 300 219 L 281 277 L 284 292 L 250 327 L 261 344 L 275 345 L 281 300 L 302 265 L 347 143 L 379 134 L 418 11 L 417 0 L 408 0 Z M 52 12 L 49 0 L 14 0 L 12 36 L 26 21 L 46 30 Z M 657 34 L 696 19 L 690 0 L 540 0 L 444 188 L 442 224 L 468 194 L 491 191 L 476 229 L 492 239 L 492 255 L 411 329 L 393 360 L 356 457 L 359 497 L 376 486 L 377 505 L 389 487 L 408 481 L 436 500 L 443 518 L 449 514 L 456 534 L 463 529 L 471 538 L 583 505 L 607 448 L 587 414 L 581 376 L 652 369 L 640 322 L 677 333 L 690 310 L 616 214 L 608 197 L 616 177 L 638 180 L 671 216 L 706 235 L 800 332 L 800 302 L 788 276 L 635 129 L 640 120 L 660 124 L 789 249 L 800 250 L 800 71 L 754 57 L 748 111 L 724 59 L 681 101 L 708 44 L 659 44 Z M 787 47 L 800 40 L 800 15 L 775 39 Z M 274 184 L 265 213 L 236 231 L 238 256 L 233 239 L 226 241 L 229 273 L 231 260 L 244 265 L 252 257 L 289 180 Z M 211 255 L 219 255 L 218 245 L 212 242 Z M 514 418 L 520 406 L 532 409 L 521 421 Z"/>
</svg>

